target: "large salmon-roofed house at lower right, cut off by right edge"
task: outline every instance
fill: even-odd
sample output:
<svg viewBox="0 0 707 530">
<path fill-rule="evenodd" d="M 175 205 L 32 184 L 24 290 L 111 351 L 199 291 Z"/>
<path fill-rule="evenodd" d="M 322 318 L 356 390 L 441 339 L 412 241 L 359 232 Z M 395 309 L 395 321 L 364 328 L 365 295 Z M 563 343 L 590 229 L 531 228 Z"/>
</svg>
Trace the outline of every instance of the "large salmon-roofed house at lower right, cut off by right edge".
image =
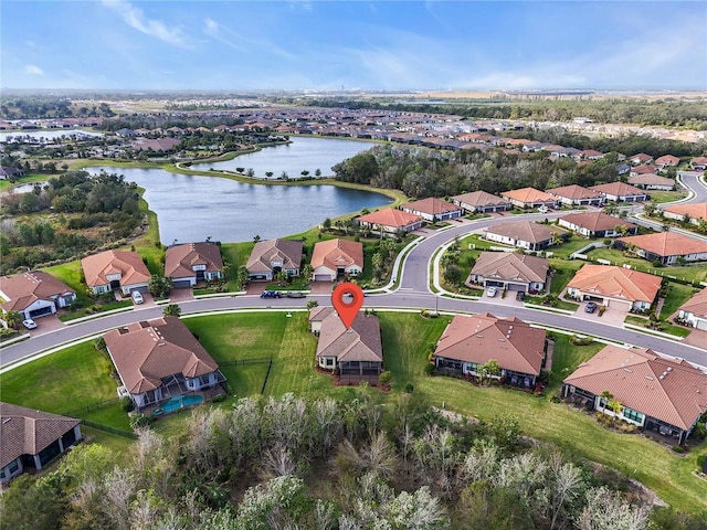
<svg viewBox="0 0 707 530">
<path fill-rule="evenodd" d="M 603 392 L 621 403 L 618 414 Z M 564 379 L 562 395 L 682 444 L 707 412 L 707 374 L 647 349 L 610 344 Z"/>
</svg>

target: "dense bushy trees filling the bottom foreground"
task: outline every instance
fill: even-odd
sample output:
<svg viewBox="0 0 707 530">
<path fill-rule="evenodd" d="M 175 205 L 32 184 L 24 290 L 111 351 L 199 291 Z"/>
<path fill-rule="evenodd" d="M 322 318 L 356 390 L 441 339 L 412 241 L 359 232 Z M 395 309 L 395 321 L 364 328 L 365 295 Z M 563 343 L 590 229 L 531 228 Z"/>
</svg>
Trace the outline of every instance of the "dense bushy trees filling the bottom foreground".
<svg viewBox="0 0 707 530">
<path fill-rule="evenodd" d="M 137 427 L 129 455 L 80 445 L 2 496 L 8 528 L 642 529 L 582 462 L 525 445 L 513 416 L 447 418 L 402 393 L 242 399 L 199 407 L 181 437 Z M 666 518 L 669 519 L 669 518 Z"/>
</svg>

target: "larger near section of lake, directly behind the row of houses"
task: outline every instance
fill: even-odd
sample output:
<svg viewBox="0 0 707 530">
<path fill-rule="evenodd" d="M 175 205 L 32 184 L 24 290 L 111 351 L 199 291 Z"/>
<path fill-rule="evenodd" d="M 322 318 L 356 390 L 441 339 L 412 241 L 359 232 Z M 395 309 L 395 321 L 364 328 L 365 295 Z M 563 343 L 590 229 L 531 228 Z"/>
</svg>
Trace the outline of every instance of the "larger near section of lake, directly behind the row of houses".
<svg viewBox="0 0 707 530">
<path fill-rule="evenodd" d="M 327 218 L 392 202 L 380 193 L 329 184 L 250 184 L 162 169 L 86 168 L 92 173 L 102 169 L 145 188 L 145 200 L 157 213 L 160 240 L 166 245 L 208 236 L 223 243 L 250 241 L 255 235 L 262 240 L 283 237 L 309 230 Z"/>
</svg>

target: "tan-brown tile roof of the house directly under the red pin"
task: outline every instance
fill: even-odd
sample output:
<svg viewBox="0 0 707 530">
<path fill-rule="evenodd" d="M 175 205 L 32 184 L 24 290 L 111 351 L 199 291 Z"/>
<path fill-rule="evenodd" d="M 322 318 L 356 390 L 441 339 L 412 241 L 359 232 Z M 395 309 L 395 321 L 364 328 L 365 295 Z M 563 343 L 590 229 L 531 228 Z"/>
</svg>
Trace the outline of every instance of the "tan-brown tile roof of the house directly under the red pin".
<svg viewBox="0 0 707 530">
<path fill-rule="evenodd" d="M 329 312 L 321 320 L 317 357 L 335 357 L 337 362 L 382 362 L 383 346 L 378 317 L 359 312 L 351 327 L 346 329 L 339 315 Z"/>
</svg>

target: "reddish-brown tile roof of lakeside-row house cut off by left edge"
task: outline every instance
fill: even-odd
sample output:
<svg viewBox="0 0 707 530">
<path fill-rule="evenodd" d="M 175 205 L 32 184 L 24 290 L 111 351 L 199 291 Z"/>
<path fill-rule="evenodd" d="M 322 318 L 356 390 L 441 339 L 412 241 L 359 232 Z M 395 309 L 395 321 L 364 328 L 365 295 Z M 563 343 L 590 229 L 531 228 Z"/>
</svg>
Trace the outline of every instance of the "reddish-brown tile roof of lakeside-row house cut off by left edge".
<svg viewBox="0 0 707 530">
<path fill-rule="evenodd" d="M 6 311 L 21 311 L 36 300 L 75 294 L 63 282 L 43 271 L 0 277 L 0 293 L 8 298 L 2 304 Z"/>
</svg>

